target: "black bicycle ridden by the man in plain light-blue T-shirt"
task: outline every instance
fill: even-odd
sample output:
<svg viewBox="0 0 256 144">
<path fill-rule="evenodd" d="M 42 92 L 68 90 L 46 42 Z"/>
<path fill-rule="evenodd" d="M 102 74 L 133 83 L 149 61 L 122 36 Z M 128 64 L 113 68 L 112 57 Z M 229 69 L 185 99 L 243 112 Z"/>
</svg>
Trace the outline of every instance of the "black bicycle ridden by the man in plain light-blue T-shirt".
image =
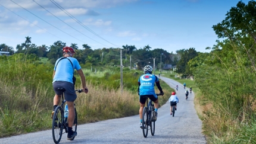
<svg viewBox="0 0 256 144">
<path fill-rule="evenodd" d="M 55 108 L 54 116 L 52 117 L 52 138 L 54 139 L 55 143 L 59 143 L 61 140 L 61 136 L 63 133 L 68 133 L 68 123 L 67 123 L 67 117 L 64 117 L 64 106 L 66 100 L 64 100 L 64 88 L 58 88 L 58 91 L 61 91 L 61 105 L 58 105 L 58 107 Z M 76 89 L 76 92 L 81 93 L 83 89 Z M 72 129 L 74 132 L 77 130 L 77 112 L 76 112 L 76 105 L 74 104 L 74 123 Z M 63 132 L 63 129 L 65 132 Z M 74 140 L 74 137 L 73 139 Z"/>
</svg>

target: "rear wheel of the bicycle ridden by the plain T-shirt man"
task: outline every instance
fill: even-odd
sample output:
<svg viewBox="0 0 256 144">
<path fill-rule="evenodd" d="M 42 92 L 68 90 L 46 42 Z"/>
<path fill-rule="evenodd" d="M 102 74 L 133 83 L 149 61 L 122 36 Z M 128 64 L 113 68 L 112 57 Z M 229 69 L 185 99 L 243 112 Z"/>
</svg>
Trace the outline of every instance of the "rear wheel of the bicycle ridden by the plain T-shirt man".
<svg viewBox="0 0 256 144">
<path fill-rule="evenodd" d="M 54 116 L 52 117 L 52 138 L 55 143 L 60 143 L 61 136 L 63 135 L 63 121 L 64 121 L 63 108 L 58 106 L 55 108 Z"/>
</svg>

